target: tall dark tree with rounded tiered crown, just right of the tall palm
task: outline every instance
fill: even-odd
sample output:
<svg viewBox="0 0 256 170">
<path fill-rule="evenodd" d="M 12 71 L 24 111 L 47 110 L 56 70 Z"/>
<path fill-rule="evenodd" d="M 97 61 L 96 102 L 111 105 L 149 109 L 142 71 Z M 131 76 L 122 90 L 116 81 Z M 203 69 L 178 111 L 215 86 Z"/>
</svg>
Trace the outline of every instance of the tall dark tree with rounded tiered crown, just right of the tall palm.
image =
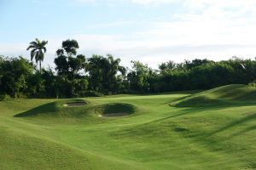
<svg viewBox="0 0 256 170">
<path fill-rule="evenodd" d="M 79 97 L 84 95 L 88 88 L 86 77 L 79 73 L 85 68 L 86 59 L 83 54 L 77 55 L 78 48 L 79 43 L 76 40 L 67 39 L 56 51 L 55 71 L 58 74 L 56 78 L 58 97 Z"/>
</svg>

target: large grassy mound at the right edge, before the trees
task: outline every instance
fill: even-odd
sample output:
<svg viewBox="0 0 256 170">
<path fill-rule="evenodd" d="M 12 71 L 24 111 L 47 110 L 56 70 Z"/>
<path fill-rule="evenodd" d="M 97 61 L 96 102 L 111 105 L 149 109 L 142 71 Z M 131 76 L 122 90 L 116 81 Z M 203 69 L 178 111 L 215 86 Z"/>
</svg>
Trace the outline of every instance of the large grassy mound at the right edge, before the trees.
<svg viewBox="0 0 256 170">
<path fill-rule="evenodd" d="M 204 106 L 204 105 L 248 105 L 256 101 L 256 88 L 233 84 L 213 88 L 187 98 L 172 102 L 173 106 Z"/>
</svg>

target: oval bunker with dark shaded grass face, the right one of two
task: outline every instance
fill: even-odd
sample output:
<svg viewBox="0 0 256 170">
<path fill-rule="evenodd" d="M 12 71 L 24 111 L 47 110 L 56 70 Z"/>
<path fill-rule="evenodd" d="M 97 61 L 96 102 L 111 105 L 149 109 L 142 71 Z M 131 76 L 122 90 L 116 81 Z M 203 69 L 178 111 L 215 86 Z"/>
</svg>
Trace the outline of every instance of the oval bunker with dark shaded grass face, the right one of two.
<svg viewBox="0 0 256 170">
<path fill-rule="evenodd" d="M 129 116 L 136 112 L 136 107 L 125 103 L 112 103 L 101 105 L 96 109 L 99 116 Z"/>
</svg>

